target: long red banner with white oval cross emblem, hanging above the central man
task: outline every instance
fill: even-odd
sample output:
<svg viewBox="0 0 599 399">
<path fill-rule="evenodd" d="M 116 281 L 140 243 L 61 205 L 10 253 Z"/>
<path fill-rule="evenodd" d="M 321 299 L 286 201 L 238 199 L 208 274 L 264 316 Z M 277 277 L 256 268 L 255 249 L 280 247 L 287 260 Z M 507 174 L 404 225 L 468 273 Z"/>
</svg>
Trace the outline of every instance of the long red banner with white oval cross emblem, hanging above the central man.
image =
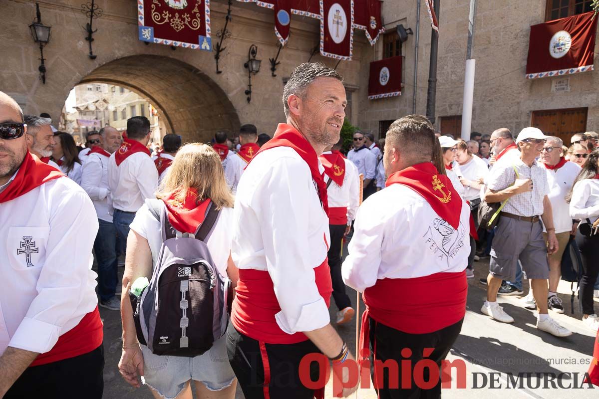
<svg viewBox="0 0 599 399">
<path fill-rule="evenodd" d="M 320 0 L 320 54 L 352 59 L 353 0 Z"/>
</svg>

